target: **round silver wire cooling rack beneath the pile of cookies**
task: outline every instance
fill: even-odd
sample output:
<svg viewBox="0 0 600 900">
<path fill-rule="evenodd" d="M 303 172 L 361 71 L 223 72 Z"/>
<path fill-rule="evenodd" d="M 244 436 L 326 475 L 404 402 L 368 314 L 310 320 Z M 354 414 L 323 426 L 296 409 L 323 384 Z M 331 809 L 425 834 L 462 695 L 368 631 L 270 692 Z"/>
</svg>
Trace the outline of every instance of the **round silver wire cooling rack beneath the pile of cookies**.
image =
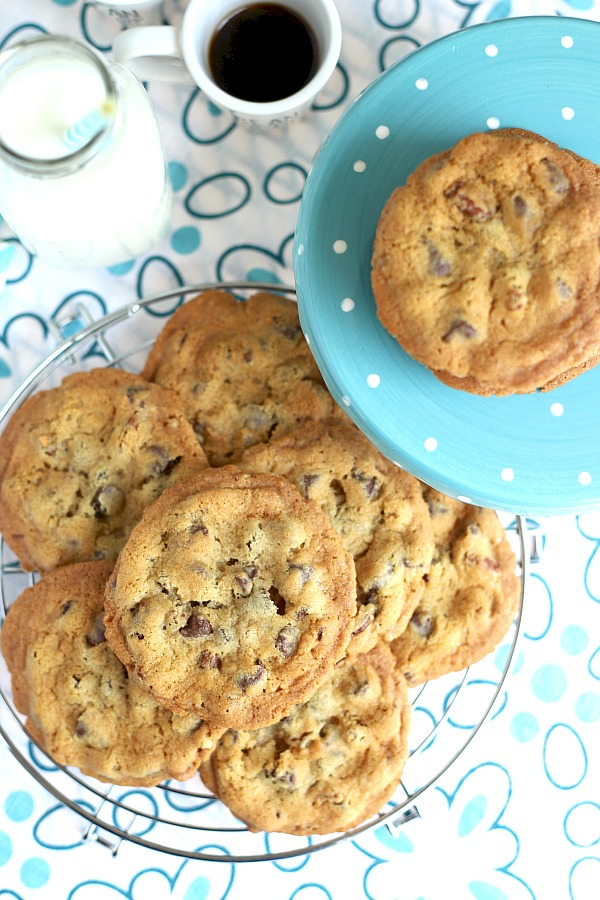
<svg viewBox="0 0 600 900">
<path fill-rule="evenodd" d="M 53 323 L 57 346 L 23 381 L 0 411 L 0 429 L 32 393 L 59 384 L 72 371 L 115 366 L 138 372 L 168 316 L 190 296 L 222 288 L 244 297 L 259 290 L 294 299 L 294 289 L 268 283 L 227 282 L 179 287 L 138 300 L 94 320 L 77 304 Z M 73 844 L 98 841 L 113 855 L 123 841 L 189 859 L 253 862 L 303 856 L 386 827 L 396 834 L 419 815 L 417 801 L 449 770 L 475 738 L 486 719 L 506 702 L 505 681 L 511 670 L 521 630 L 529 565 L 537 555 L 536 536 L 520 516 L 501 516 L 518 560 L 520 600 L 504 642 L 481 662 L 412 689 L 413 721 L 410 756 L 398 790 L 377 816 L 343 834 L 292 837 L 251 833 L 204 787 L 198 776 L 186 782 L 166 781 L 154 788 L 106 785 L 79 770 L 57 765 L 33 741 L 16 711 L 10 675 L 0 658 L 0 735 L 22 767 L 62 806 L 64 829 Z M 24 572 L 0 538 L 0 622 L 11 603 L 37 580 Z"/>
</svg>

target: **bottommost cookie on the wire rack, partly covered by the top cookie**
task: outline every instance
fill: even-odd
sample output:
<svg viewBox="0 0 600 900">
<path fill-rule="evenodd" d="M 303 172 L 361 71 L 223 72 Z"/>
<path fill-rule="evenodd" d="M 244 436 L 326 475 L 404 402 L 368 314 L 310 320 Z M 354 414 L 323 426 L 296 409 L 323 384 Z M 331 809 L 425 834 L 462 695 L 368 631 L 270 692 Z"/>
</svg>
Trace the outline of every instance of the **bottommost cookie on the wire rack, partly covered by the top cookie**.
<svg viewBox="0 0 600 900">
<path fill-rule="evenodd" d="M 200 774 L 251 831 L 346 831 L 398 787 L 410 721 L 406 682 L 379 644 L 337 665 L 281 722 L 227 731 Z"/>
</svg>

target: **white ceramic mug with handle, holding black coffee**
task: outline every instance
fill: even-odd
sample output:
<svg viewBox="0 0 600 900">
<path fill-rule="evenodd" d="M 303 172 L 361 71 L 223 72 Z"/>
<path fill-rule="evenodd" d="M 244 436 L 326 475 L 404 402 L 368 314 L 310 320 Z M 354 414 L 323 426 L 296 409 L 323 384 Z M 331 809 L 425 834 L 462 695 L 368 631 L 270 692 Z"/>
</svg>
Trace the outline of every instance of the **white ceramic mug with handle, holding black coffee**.
<svg viewBox="0 0 600 900">
<path fill-rule="evenodd" d="M 117 35 L 113 52 L 142 81 L 158 79 L 197 85 L 216 106 L 259 128 L 285 125 L 310 106 L 333 74 L 342 45 L 342 27 L 333 0 L 283 0 L 278 4 L 299 15 L 317 42 L 316 71 L 290 96 L 267 102 L 234 97 L 211 74 L 209 48 L 215 31 L 231 14 L 256 3 L 241 0 L 191 0 L 181 26 L 134 28 Z"/>
</svg>

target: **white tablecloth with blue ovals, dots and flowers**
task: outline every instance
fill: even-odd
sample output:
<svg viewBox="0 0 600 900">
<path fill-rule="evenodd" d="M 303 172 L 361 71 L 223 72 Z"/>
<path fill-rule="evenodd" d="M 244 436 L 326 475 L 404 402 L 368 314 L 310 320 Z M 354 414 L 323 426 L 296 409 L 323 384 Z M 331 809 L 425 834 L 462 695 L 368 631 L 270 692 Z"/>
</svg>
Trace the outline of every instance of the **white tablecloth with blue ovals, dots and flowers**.
<svg viewBox="0 0 600 900">
<path fill-rule="evenodd" d="M 442 34 L 510 15 L 600 19 L 598 0 L 338 0 L 340 65 L 283 137 L 255 135 L 200 92 L 150 84 L 175 209 L 169 235 L 112 270 L 53 269 L 14 243 L 0 295 L 0 399 L 54 346 L 77 302 L 94 316 L 163 288 L 212 280 L 293 283 L 291 250 L 316 151 L 362 88 Z M 116 25 L 81 0 L 0 4 L 0 43 L 49 31 L 110 54 Z M 168 4 L 177 21 L 175 0 Z M 599 48 L 600 52 L 600 48 Z M 600 513 L 548 519 L 502 702 L 397 833 L 279 862 L 186 860 L 82 842 L 85 823 L 0 743 L 0 898 L 111 900 L 597 900 L 600 897 Z"/>
</svg>

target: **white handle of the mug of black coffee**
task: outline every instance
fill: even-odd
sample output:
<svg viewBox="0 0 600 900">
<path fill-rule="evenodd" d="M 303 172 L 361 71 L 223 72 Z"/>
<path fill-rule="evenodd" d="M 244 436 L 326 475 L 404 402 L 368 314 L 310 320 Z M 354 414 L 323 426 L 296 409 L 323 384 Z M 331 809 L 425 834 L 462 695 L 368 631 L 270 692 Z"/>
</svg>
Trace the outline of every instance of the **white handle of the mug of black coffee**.
<svg viewBox="0 0 600 900">
<path fill-rule="evenodd" d="M 119 32 L 113 56 L 140 81 L 196 83 L 183 61 L 179 29 L 174 25 L 143 25 Z"/>
</svg>

